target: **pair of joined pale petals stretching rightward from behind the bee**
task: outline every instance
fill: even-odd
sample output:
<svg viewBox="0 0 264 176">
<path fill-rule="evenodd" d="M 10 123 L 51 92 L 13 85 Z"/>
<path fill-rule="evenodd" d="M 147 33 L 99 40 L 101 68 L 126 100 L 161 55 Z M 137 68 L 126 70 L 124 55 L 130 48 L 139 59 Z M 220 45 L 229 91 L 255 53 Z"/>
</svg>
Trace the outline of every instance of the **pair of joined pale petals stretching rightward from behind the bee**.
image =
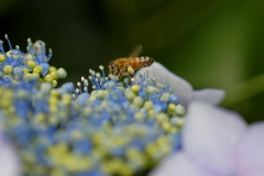
<svg viewBox="0 0 264 176">
<path fill-rule="evenodd" d="M 207 88 L 194 90 L 188 81 L 169 72 L 157 62 L 147 68 L 140 69 L 135 74 L 135 80 L 140 80 L 140 75 L 145 72 L 148 72 L 150 77 L 154 77 L 157 82 L 169 85 L 169 88 L 179 97 L 180 105 L 185 108 L 194 100 L 202 100 L 212 105 L 218 105 L 226 96 L 224 90 L 221 89 Z"/>
</svg>

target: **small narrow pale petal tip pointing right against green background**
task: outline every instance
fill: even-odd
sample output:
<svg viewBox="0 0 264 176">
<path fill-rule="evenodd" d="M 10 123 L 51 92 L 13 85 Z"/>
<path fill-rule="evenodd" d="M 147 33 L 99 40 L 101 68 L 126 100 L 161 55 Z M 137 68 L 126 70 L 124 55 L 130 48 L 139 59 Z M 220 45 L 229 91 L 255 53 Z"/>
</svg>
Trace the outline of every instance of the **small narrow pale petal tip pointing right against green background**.
<svg viewBox="0 0 264 176">
<path fill-rule="evenodd" d="M 226 91 L 221 89 L 202 89 L 195 90 L 193 100 L 206 101 L 212 105 L 220 103 L 226 97 Z"/>
</svg>

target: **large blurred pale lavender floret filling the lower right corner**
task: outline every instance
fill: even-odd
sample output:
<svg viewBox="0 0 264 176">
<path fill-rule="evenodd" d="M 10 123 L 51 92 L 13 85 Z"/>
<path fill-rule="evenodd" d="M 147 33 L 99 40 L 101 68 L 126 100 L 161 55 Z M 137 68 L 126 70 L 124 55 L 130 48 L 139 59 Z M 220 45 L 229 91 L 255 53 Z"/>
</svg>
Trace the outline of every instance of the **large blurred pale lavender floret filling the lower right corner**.
<svg viewBox="0 0 264 176">
<path fill-rule="evenodd" d="M 183 129 L 183 151 L 151 176 L 263 176 L 264 122 L 248 125 L 232 111 L 194 102 Z"/>
</svg>

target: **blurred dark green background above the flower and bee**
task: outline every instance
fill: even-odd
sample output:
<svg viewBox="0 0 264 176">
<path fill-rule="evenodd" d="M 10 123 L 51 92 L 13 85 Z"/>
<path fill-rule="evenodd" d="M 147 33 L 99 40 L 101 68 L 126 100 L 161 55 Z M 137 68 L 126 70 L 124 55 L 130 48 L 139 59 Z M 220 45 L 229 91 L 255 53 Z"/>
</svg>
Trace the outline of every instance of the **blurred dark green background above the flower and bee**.
<svg viewBox="0 0 264 176">
<path fill-rule="evenodd" d="M 65 81 L 142 44 L 142 55 L 195 89 L 226 89 L 223 107 L 264 119 L 263 0 L 1 0 L 0 20 L 1 40 L 9 34 L 22 51 L 28 37 L 52 47 Z"/>
</svg>

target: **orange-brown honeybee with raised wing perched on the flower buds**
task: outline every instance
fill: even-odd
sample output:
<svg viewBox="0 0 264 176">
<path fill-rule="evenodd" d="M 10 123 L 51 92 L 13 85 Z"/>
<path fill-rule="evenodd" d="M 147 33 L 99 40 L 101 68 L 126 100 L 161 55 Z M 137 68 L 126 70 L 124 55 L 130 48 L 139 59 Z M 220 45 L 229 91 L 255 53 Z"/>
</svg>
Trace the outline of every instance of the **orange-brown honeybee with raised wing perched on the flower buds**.
<svg viewBox="0 0 264 176">
<path fill-rule="evenodd" d="M 155 62 L 154 58 L 148 56 L 138 57 L 141 52 L 142 46 L 139 45 L 134 48 L 129 57 L 117 58 L 110 62 L 108 65 L 110 74 L 118 77 L 118 79 L 120 79 L 122 76 L 133 77 L 135 69 L 148 67 Z"/>
</svg>

